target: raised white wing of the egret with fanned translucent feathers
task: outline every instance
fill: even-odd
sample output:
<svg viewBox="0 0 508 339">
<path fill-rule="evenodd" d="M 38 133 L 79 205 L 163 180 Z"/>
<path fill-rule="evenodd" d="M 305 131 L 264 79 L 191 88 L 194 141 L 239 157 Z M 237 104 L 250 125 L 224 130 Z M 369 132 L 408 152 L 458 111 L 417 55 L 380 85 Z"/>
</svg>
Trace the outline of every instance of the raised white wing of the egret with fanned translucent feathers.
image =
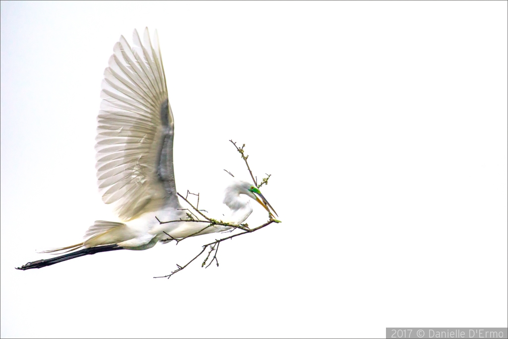
<svg viewBox="0 0 508 339">
<path fill-rule="evenodd" d="M 104 71 L 97 127 L 97 178 L 102 199 L 130 220 L 178 205 L 173 171 L 174 120 L 155 31 L 134 45 L 120 37 Z"/>
</svg>

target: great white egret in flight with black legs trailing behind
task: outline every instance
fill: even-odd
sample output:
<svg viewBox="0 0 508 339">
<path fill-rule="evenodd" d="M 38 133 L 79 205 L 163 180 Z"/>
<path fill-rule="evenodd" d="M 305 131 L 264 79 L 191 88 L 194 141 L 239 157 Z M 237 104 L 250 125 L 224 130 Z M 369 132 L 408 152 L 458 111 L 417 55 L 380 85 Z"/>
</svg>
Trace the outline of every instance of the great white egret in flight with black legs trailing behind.
<svg viewBox="0 0 508 339">
<path fill-rule="evenodd" d="M 121 222 L 96 221 L 86 231 L 85 241 L 46 251 L 70 253 L 30 262 L 20 269 L 99 252 L 146 250 L 159 241 L 230 229 L 224 225 L 204 228 L 203 223 L 185 221 L 186 212 L 175 187 L 174 120 L 157 32 L 151 42 L 148 28 L 143 41 L 134 30 L 133 42 L 131 47 L 121 36 L 114 45 L 102 81 L 96 137 L 99 189 L 103 201 L 116 206 Z M 255 185 L 233 180 L 223 200 L 229 214 L 220 219 L 232 225 L 243 223 L 252 212 L 250 199 L 270 213 L 270 204 Z"/>
</svg>

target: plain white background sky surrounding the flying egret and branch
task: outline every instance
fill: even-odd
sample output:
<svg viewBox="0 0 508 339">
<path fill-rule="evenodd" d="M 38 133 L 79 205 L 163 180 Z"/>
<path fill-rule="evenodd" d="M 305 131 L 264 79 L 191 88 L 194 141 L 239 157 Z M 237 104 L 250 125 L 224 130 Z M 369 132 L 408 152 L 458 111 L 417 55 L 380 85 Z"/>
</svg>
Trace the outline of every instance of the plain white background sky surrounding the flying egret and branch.
<svg viewBox="0 0 508 339">
<path fill-rule="evenodd" d="M 507 326 L 507 3 L 2 2 L 2 337 L 384 337 Z M 40 270 L 96 188 L 114 43 L 157 28 L 180 192 L 246 143 L 281 224 Z M 256 207 L 248 222 L 263 222 Z"/>
</svg>

